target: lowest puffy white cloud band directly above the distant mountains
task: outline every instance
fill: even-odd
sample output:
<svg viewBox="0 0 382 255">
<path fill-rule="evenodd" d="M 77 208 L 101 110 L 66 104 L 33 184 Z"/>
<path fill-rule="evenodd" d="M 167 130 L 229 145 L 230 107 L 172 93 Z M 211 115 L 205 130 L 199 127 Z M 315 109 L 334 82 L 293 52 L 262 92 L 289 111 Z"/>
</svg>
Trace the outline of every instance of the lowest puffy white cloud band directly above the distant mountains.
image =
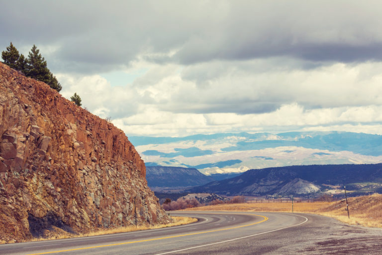
<svg viewBox="0 0 382 255">
<path fill-rule="evenodd" d="M 382 134 L 382 106 L 304 109 L 284 105 L 265 114 L 174 114 L 155 109 L 113 123 L 128 136 L 186 136 L 195 133 L 340 130 Z M 366 113 L 366 114 L 365 114 Z"/>
</svg>

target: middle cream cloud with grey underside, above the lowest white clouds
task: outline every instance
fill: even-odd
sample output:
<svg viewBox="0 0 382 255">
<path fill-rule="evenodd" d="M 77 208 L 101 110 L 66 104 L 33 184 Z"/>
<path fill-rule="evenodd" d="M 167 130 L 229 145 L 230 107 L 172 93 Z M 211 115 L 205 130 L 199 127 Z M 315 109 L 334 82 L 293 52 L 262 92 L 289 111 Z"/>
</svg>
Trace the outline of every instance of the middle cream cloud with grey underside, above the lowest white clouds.
<svg viewBox="0 0 382 255">
<path fill-rule="evenodd" d="M 307 109 L 382 104 L 380 62 L 309 70 L 276 67 L 264 72 L 251 72 L 250 66 L 261 61 L 251 62 L 245 61 L 245 68 L 236 62 L 226 64 L 226 72 L 214 63 L 189 66 L 182 73 L 185 83 L 178 83 L 181 89 L 159 108 L 179 113 L 251 114 L 273 112 L 292 103 Z M 200 76 L 193 78 L 196 73 Z"/>
</svg>

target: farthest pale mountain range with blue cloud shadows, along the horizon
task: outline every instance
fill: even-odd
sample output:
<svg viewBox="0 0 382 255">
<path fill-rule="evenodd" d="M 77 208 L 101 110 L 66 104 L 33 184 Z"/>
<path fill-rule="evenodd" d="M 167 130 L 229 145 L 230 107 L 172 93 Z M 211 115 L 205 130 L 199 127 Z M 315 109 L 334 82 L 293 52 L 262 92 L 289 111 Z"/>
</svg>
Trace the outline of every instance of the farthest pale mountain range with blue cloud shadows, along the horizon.
<svg viewBox="0 0 382 255">
<path fill-rule="evenodd" d="M 314 164 L 382 162 L 382 135 L 339 132 L 217 133 L 130 136 L 146 166 L 196 168 L 210 175 Z"/>
</svg>

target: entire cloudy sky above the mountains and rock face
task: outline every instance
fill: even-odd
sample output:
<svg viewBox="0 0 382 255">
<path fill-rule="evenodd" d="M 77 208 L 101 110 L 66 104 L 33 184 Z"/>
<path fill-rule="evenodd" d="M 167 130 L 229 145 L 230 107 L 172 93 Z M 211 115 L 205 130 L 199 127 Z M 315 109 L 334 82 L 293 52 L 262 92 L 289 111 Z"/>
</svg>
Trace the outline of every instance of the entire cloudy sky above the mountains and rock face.
<svg viewBox="0 0 382 255">
<path fill-rule="evenodd" d="M 0 0 L 64 97 L 127 136 L 382 134 L 382 2 Z"/>
</svg>

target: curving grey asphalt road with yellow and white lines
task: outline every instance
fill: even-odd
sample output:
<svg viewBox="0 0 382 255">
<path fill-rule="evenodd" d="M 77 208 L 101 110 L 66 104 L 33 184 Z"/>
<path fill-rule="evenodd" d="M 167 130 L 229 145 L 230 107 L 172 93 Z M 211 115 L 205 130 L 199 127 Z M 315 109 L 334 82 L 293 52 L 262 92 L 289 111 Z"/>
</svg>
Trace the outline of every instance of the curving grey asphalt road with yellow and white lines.
<svg viewBox="0 0 382 255">
<path fill-rule="evenodd" d="M 0 255 L 381 254 L 382 230 L 311 214 L 173 212 L 197 223 L 97 237 L 8 244 Z"/>
</svg>

